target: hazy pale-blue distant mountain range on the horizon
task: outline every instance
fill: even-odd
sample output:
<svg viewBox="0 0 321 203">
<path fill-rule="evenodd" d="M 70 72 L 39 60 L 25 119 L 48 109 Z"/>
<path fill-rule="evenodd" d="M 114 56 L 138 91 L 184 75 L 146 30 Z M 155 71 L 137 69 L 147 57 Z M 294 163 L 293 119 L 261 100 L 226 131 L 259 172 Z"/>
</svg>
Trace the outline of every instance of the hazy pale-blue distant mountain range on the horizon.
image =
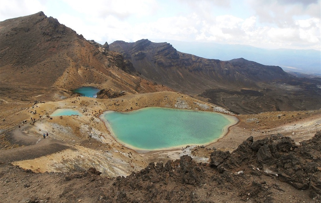
<svg viewBox="0 0 321 203">
<path fill-rule="evenodd" d="M 313 49 L 263 49 L 249 45 L 166 41 L 180 52 L 207 59 L 229 61 L 244 58 L 264 65 L 280 66 L 285 71 L 321 75 L 321 51 Z"/>
</svg>

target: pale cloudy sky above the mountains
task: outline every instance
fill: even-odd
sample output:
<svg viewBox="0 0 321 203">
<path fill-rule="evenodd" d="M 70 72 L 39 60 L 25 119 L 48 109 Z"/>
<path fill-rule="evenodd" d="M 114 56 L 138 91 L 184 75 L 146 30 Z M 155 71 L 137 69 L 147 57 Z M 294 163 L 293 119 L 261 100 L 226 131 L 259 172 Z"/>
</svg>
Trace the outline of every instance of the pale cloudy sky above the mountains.
<svg viewBox="0 0 321 203">
<path fill-rule="evenodd" d="M 149 39 L 320 50 L 320 0 L 1 0 L 0 21 L 43 11 L 100 44 Z"/>
</svg>

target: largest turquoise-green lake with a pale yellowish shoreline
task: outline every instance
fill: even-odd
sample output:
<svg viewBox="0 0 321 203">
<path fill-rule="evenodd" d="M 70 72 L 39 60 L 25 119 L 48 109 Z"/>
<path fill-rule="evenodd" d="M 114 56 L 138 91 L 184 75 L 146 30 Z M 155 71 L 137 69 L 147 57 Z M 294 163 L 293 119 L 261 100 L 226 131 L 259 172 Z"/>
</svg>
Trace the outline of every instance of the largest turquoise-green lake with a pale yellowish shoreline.
<svg viewBox="0 0 321 203">
<path fill-rule="evenodd" d="M 215 112 L 160 107 L 107 111 L 100 118 L 118 142 L 137 150 L 210 144 L 238 122 L 236 117 Z"/>
</svg>

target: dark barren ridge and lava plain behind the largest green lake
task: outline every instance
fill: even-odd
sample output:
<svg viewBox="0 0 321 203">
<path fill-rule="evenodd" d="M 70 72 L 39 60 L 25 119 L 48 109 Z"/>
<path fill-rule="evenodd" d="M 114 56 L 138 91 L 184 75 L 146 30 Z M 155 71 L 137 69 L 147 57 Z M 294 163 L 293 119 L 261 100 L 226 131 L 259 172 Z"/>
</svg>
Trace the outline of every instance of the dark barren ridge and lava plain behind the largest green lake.
<svg viewBox="0 0 321 203">
<path fill-rule="evenodd" d="M 144 77 L 236 113 L 321 108 L 320 78 L 296 78 L 278 66 L 243 58 L 204 59 L 147 39 L 115 41 L 109 47 L 122 53 Z"/>
</svg>

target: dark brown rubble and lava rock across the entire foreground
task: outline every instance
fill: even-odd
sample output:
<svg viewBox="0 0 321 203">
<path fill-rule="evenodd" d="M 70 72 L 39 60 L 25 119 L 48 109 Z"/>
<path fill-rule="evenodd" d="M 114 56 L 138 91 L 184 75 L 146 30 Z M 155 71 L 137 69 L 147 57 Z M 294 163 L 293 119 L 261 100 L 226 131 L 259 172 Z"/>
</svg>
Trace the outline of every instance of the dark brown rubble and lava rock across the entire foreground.
<svg viewBox="0 0 321 203">
<path fill-rule="evenodd" d="M 300 143 L 280 134 L 249 137 L 231 153 L 213 150 L 209 164 L 185 155 L 111 179 L 94 168 L 39 174 L 0 167 L 3 200 L 19 191 L 29 197 L 23 202 L 321 202 L 320 132 Z"/>
</svg>

